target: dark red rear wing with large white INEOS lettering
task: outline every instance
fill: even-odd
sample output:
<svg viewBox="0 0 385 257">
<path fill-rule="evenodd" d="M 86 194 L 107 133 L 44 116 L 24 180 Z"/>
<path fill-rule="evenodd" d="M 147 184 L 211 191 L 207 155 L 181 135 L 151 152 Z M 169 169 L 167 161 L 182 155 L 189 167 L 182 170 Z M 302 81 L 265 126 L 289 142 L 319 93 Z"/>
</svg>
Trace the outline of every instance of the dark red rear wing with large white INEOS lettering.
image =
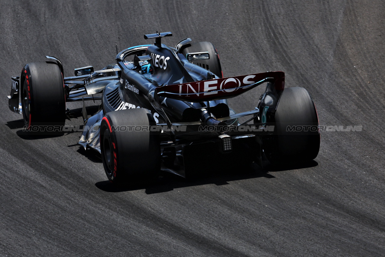
<svg viewBox="0 0 385 257">
<path fill-rule="evenodd" d="M 285 87 L 285 72 L 263 72 L 223 79 L 211 79 L 157 87 L 158 96 L 186 102 L 205 102 L 231 98 L 264 83 L 271 82 L 277 91 Z"/>
</svg>

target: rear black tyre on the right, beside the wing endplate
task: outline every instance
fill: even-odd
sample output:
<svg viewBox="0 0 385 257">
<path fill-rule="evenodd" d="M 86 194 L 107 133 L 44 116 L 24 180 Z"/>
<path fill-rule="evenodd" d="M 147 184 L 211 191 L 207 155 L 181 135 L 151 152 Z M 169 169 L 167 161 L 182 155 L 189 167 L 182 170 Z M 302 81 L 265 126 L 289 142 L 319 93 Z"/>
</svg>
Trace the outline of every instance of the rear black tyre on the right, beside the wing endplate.
<svg viewBox="0 0 385 257">
<path fill-rule="evenodd" d="M 303 87 L 284 89 L 277 106 L 275 134 L 262 139 L 264 154 L 273 165 L 310 161 L 320 149 L 318 116 Z"/>
</svg>

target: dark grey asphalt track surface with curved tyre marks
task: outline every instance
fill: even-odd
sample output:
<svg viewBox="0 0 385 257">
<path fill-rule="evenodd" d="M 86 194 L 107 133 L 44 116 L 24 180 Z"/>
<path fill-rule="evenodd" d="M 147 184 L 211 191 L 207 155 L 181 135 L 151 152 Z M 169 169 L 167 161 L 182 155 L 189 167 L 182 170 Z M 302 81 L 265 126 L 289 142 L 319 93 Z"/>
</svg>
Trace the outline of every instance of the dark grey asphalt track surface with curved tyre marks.
<svg viewBox="0 0 385 257">
<path fill-rule="evenodd" d="M 0 6 L 0 256 L 385 256 L 383 1 Z M 224 76 L 284 71 L 286 87 L 310 92 L 321 126 L 362 131 L 322 131 L 320 153 L 303 166 L 234 168 L 194 182 L 165 175 L 125 190 L 75 145 L 80 133 L 22 133 L 6 96 L 24 64 L 53 55 L 65 76 L 100 69 L 114 63 L 118 37 L 122 49 L 152 43 L 143 34 L 156 30 L 172 31 L 163 41 L 172 46 L 212 42 Z M 254 108 L 263 90 L 231 107 Z"/>
</svg>

